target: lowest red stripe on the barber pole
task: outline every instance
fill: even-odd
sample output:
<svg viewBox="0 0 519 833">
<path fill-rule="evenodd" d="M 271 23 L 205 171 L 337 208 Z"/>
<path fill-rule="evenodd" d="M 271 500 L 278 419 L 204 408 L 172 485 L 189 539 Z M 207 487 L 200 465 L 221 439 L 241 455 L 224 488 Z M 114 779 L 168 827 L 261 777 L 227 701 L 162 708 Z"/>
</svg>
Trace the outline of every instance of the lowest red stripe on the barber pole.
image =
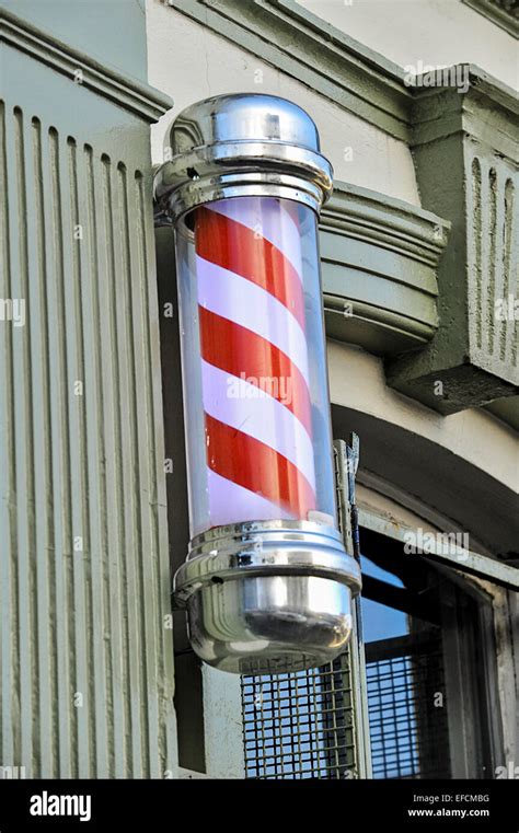
<svg viewBox="0 0 519 833">
<path fill-rule="evenodd" d="M 207 463 L 221 477 L 307 520 L 315 494 L 287 458 L 206 414 Z M 253 519 L 251 519 L 253 520 Z"/>
</svg>

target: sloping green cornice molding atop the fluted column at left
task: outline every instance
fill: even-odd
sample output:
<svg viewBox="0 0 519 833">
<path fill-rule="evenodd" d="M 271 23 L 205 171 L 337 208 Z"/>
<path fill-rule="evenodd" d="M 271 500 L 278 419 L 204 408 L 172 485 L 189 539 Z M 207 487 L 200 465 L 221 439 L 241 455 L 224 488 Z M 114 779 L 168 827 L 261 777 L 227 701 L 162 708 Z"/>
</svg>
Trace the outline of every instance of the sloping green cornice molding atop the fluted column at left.
<svg viewBox="0 0 519 833">
<path fill-rule="evenodd" d="M 14 46 L 72 81 L 80 71 L 83 86 L 146 122 L 157 122 L 173 105 L 169 95 L 100 63 L 7 9 L 0 9 L 1 42 Z"/>
</svg>

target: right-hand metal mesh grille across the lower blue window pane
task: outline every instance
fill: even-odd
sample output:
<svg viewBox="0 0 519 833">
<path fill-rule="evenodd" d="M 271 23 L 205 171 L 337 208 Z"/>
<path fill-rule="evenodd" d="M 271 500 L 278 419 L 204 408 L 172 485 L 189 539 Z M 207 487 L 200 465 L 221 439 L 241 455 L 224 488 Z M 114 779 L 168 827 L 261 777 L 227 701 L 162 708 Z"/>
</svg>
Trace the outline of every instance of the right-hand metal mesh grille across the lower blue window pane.
<svg viewBox="0 0 519 833">
<path fill-rule="evenodd" d="M 449 778 L 440 637 L 366 645 L 374 778 Z"/>
</svg>

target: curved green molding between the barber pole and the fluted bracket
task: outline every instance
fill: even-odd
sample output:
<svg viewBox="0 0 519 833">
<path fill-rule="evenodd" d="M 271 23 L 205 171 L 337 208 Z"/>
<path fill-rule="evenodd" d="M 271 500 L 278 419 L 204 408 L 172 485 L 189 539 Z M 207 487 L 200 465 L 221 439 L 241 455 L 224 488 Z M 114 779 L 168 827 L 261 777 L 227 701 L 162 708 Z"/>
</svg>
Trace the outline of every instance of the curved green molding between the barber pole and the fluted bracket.
<svg viewBox="0 0 519 833">
<path fill-rule="evenodd" d="M 381 356 L 430 342 L 449 230 L 430 211 L 335 182 L 320 219 L 328 336 Z"/>
</svg>

